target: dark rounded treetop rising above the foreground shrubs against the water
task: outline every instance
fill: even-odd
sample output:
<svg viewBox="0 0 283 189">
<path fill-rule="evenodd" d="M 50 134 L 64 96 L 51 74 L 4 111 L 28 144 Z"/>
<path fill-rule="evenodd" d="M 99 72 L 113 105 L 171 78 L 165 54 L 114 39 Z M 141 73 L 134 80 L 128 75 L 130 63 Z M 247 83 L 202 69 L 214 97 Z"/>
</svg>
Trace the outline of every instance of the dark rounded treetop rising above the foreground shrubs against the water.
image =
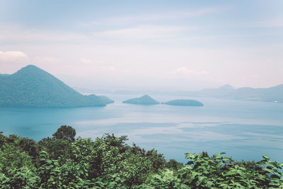
<svg viewBox="0 0 283 189">
<path fill-rule="evenodd" d="M 69 142 L 74 142 L 75 141 L 75 136 L 76 136 L 76 130 L 67 125 L 62 125 L 57 132 L 54 132 L 52 134 L 54 139 L 66 139 Z"/>
</svg>

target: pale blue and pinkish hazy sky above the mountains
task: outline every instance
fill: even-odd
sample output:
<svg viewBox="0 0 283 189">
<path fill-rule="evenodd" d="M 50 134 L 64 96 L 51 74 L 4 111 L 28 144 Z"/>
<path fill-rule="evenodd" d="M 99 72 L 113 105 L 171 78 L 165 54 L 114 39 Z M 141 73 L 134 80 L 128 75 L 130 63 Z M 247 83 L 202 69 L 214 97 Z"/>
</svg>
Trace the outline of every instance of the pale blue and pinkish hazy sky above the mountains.
<svg viewBox="0 0 283 189">
<path fill-rule="evenodd" d="M 193 91 L 283 84 L 283 1 L 0 0 L 0 74 Z"/>
</svg>

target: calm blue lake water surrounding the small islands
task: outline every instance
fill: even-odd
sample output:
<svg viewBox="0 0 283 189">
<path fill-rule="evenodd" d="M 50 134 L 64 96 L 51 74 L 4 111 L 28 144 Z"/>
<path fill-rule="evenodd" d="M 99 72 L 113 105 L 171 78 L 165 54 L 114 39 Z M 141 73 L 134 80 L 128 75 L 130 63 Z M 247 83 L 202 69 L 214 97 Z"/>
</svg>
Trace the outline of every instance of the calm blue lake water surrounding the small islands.
<svg viewBox="0 0 283 189">
<path fill-rule="evenodd" d="M 157 149 L 166 159 L 185 162 L 185 153 L 219 154 L 259 161 L 262 154 L 283 161 L 283 103 L 190 98 L 204 107 L 129 105 L 137 96 L 105 94 L 115 100 L 93 108 L 0 108 L 0 131 L 40 140 L 61 125 L 71 125 L 81 137 L 103 133 L 127 135 L 145 149 Z M 157 101 L 180 99 L 152 96 Z M 183 97 L 185 98 L 185 97 Z"/>
</svg>

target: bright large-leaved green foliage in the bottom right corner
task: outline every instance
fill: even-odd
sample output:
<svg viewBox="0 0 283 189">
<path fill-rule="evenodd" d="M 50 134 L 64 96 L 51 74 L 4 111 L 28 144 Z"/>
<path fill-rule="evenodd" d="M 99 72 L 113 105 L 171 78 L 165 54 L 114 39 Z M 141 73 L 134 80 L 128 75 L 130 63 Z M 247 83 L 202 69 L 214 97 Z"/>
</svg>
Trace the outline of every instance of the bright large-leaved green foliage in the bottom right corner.
<svg viewBox="0 0 283 189">
<path fill-rule="evenodd" d="M 265 159 L 253 166 L 235 164 L 225 153 L 211 158 L 186 154 L 187 166 L 180 170 L 183 183 L 192 188 L 272 188 L 282 187 L 282 165 Z"/>
</svg>

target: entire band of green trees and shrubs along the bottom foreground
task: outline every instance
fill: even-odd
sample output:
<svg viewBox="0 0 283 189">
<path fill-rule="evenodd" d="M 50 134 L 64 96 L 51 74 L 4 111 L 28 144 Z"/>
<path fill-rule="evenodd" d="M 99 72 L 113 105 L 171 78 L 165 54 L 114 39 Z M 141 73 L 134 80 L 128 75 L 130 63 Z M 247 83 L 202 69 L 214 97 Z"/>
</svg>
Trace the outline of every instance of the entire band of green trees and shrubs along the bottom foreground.
<svg viewBox="0 0 283 189">
<path fill-rule="evenodd" d="M 66 125 L 39 142 L 0 133 L 1 188 L 283 188 L 283 163 L 268 156 L 255 163 L 187 153 L 183 165 L 125 144 L 126 136 L 75 135 Z"/>
</svg>

